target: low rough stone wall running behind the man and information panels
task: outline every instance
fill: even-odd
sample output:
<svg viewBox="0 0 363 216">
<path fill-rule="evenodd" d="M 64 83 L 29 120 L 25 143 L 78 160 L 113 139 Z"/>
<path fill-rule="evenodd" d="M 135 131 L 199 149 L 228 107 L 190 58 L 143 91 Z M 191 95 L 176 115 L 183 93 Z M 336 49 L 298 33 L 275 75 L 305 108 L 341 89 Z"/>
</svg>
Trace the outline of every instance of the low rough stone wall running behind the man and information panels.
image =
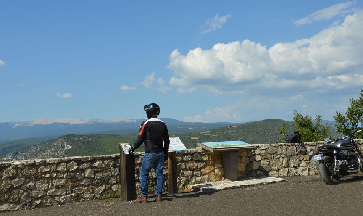
<svg viewBox="0 0 363 216">
<path fill-rule="evenodd" d="M 256 150 L 239 151 L 238 178 L 317 174 L 311 155 L 322 143 L 261 144 Z M 356 143 L 361 148 L 363 140 Z M 143 153 L 135 153 L 137 193 L 141 190 L 142 157 Z M 178 188 L 225 179 L 220 153 L 188 149 L 178 152 L 176 161 Z M 119 167 L 119 154 L 0 162 L 0 212 L 117 197 L 122 193 Z M 165 192 L 167 178 L 165 163 Z M 156 182 L 154 169 L 149 179 L 152 190 Z"/>
</svg>

